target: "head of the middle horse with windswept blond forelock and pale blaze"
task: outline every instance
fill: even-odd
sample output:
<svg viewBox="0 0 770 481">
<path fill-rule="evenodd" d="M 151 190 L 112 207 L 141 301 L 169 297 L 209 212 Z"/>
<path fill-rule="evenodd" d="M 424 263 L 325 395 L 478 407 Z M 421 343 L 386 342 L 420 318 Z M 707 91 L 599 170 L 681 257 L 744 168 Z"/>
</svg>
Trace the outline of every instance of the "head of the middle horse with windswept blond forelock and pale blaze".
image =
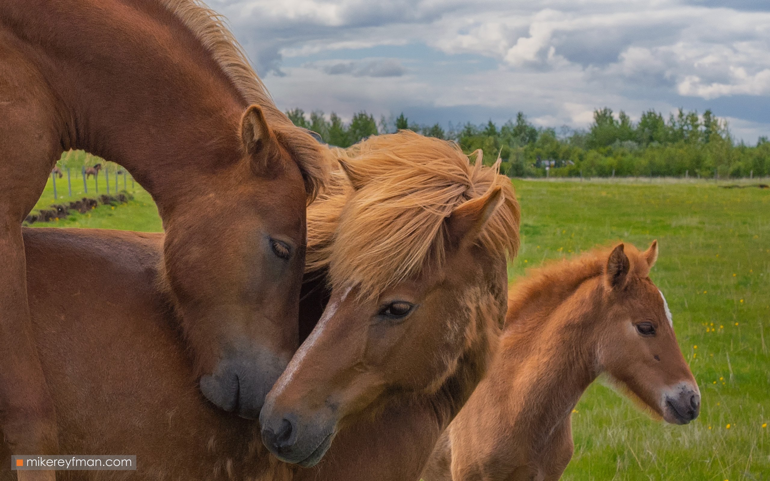
<svg viewBox="0 0 770 481">
<path fill-rule="evenodd" d="M 377 471 L 417 479 L 504 320 L 519 210 L 510 180 L 479 159 L 406 131 L 344 153 L 352 189 L 308 211 L 308 269 L 327 270 L 330 300 L 259 416 L 279 459 L 314 466 L 346 426 L 428 413 L 418 425 L 433 439 L 392 446 L 397 471 Z"/>
</svg>

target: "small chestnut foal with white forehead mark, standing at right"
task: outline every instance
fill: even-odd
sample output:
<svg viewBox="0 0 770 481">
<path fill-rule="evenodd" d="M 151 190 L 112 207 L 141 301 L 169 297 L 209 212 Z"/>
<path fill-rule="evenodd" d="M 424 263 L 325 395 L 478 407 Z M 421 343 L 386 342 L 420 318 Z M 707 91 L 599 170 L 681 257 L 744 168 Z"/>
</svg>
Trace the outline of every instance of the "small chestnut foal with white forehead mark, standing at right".
<svg viewBox="0 0 770 481">
<path fill-rule="evenodd" d="M 425 481 L 554 481 L 574 449 L 571 413 L 601 373 L 686 424 L 700 392 L 645 252 L 619 244 L 535 270 L 511 288 L 500 351 L 437 444 Z"/>
</svg>

